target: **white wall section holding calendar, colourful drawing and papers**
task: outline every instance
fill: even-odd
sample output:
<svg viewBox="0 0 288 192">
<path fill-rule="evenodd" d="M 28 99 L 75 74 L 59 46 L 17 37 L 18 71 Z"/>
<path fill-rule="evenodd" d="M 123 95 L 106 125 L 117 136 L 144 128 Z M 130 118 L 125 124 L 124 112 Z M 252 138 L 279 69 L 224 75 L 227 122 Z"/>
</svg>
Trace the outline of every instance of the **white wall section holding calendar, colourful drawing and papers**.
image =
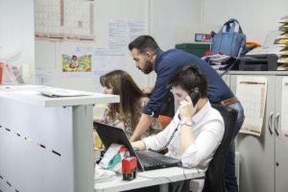
<svg viewBox="0 0 288 192">
<path fill-rule="evenodd" d="M 102 92 L 99 77 L 121 69 L 127 70 L 140 87 L 147 85 L 148 77 L 136 69 L 127 46 L 149 31 L 148 1 L 36 0 L 35 83 Z M 69 21 L 67 18 L 74 14 L 75 8 L 86 15 L 74 15 Z M 61 13 L 63 9 L 65 14 Z M 56 22 L 43 23 L 42 18 L 47 15 L 53 15 Z M 86 21 L 82 31 L 77 29 L 79 18 Z M 79 38 L 89 35 L 93 38 Z"/>
</svg>

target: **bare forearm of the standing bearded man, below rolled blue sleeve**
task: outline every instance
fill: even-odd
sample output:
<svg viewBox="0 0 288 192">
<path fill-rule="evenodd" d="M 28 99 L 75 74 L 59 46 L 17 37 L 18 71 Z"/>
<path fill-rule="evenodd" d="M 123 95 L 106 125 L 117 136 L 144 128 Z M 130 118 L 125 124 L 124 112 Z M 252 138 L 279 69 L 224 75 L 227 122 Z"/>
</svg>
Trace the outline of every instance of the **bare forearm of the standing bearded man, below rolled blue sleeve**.
<svg viewBox="0 0 288 192">
<path fill-rule="evenodd" d="M 147 115 L 145 113 L 142 113 L 141 118 L 138 122 L 137 127 L 134 130 L 133 135 L 130 138 L 130 141 L 137 141 L 142 134 L 149 129 L 149 127 L 152 125 L 153 118 L 150 115 Z"/>
</svg>

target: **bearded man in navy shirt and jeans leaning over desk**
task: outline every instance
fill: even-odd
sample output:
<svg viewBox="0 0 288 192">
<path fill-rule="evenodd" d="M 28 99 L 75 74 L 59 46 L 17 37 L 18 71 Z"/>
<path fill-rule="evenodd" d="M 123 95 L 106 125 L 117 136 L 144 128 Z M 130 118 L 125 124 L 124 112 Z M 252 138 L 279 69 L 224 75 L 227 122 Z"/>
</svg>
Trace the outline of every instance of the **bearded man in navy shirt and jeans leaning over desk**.
<svg viewBox="0 0 288 192">
<path fill-rule="evenodd" d="M 234 136 L 237 135 L 244 120 L 243 107 L 237 97 L 228 88 L 218 73 L 205 61 L 178 49 L 162 51 L 157 42 L 150 35 L 141 35 L 129 43 L 129 50 L 136 67 L 145 74 L 154 70 L 157 80 L 152 90 L 149 102 L 145 105 L 138 125 L 131 136 L 130 141 L 137 141 L 150 127 L 153 118 L 157 118 L 163 102 L 169 93 L 167 83 L 173 79 L 179 69 L 186 65 L 195 65 L 200 72 L 206 75 L 208 80 L 208 98 L 211 103 L 223 104 L 238 111 L 237 127 Z M 225 179 L 227 191 L 238 191 L 237 178 L 235 177 L 235 148 L 234 142 L 230 145 L 225 163 Z"/>
</svg>

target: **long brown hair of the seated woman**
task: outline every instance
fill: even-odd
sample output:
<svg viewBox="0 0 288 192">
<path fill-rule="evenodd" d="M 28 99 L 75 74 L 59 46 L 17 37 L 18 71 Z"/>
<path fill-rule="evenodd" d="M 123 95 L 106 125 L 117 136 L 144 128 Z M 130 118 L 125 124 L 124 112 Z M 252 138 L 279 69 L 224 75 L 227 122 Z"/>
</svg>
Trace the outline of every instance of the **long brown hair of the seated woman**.
<svg viewBox="0 0 288 192">
<path fill-rule="evenodd" d="M 142 112 L 141 98 L 146 97 L 137 86 L 132 77 L 123 70 L 113 70 L 100 77 L 103 87 L 112 88 L 114 95 L 120 95 L 120 103 L 109 104 L 108 116 L 116 120 L 116 113 L 122 117 L 125 123 L 131 120 L 131 126 L 135 129 Z"/>
</svg>

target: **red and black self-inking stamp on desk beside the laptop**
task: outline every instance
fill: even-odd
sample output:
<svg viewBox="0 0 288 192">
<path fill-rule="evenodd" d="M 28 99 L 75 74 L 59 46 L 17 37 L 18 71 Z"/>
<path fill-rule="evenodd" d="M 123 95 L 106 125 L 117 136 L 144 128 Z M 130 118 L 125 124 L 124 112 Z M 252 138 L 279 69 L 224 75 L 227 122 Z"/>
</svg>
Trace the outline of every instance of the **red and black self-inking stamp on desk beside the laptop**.
<svg viewBox="0 0 288 192">
<path fill-rule="evenodd" d="M 122 160 L 123 180 L 130 181 L 136 178 L 137 159 L 136 157 L 127 157 Z"/>
</svg>

